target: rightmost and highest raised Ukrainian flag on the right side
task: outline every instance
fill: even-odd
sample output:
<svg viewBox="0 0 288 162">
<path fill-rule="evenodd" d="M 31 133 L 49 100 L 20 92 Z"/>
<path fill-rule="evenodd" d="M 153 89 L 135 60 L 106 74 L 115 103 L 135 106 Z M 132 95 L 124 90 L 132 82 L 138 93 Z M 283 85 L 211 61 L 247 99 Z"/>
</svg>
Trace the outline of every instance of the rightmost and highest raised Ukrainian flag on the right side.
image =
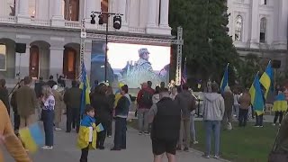
<svg viewBox="0 0 288 162">
<path fill-rule="evenodd" d="M 273 68 L 271 67 L 271 61 L 269 61 L 268 65 L 266 67 L 266 71 L 260 77 L 260 83 L 266 89 L 265 98 L 267 98 L 270 87 L 272 85 L 272 79 L 273 79 Z"/>
</svg>

